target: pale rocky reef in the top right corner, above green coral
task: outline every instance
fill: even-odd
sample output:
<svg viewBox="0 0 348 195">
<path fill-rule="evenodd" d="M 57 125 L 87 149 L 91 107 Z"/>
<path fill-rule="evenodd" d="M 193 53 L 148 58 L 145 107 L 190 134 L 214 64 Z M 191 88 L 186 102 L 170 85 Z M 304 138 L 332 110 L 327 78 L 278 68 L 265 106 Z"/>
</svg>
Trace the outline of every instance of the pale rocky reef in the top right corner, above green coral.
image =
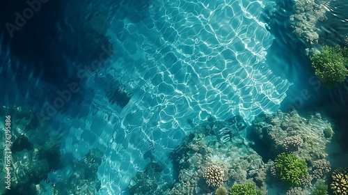
<svg viewBox="0 0 348 195">
<path fill-rule="evenodd" d="M 296 0 L 278 1 L 267 11 L 271 18 L 277 17 L 277 14 L 280 17 L 286 15 L 285 28 L 290 29 L 292 34 L 285 35 L 288 38 L 283 40 L 294 48 L 297 46 L 293 44 L 299 40 L 306 48 L 306 54 L 312 56 L 319 53 L 324 45 L 348 45 L 347 24 L 343 19 L 347 8 L 345 1 Z"/>
</svg>

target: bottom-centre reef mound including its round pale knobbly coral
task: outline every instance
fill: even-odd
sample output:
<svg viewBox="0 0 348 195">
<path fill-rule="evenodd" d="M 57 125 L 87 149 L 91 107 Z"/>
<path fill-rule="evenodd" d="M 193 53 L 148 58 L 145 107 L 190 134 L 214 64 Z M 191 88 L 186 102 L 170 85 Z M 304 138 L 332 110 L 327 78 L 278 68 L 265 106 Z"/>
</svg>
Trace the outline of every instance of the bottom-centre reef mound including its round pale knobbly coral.
<svg viewBox="0 0 348 195">
<path fill-rule="evenodd" d="M 170 155 L 173 182 L 166 186 L 150 185 L 155 180 L 154 174 L 145 170 L 132 178 L 130 194 L 213 194 L 217 189 L 221 194 L 225 192 L 223 188 L 230 189 L 235 183 L 247 182 L 255 183 L 265 191 L 267 166 L 250 147 L 253 143 L 245 139 L 245 128 L 246 123 L 240 116 L 226 121 L 210 118 L 193 127 L 182 145 Z M 164 171 L 157 175 L 166 174 L 166 168 L 162 169 Z M 157 176 L 159 180 L 162 182 L 157 183 L 166 179 Z M 141 186 L 151 187 L 148 191 L 137 190 Z"/>
</svg>

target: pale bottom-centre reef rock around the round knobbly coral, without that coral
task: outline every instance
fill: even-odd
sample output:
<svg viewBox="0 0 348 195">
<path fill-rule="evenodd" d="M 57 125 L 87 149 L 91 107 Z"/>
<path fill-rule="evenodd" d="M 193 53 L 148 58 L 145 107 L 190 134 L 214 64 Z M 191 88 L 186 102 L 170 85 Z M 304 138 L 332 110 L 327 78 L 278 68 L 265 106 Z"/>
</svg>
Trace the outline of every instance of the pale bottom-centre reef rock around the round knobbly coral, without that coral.
<svg viewBox="0 0 348 195">
<path fill-rule="evenodd" d="M 173 153 L 173 163 L 180 168 L 180 176 L 179 182 L 168 194 L 214 192 L 202 177 L 209 166 L 219 166 L 225 170 L 226 182 L 223 182 L 223 187 L 229 188 L 234 181 L 254 181 L 265 187 L 264 163 L 260 156 L 248 147 L 249 143 L 240 136 L 239 131 L 244 130 L 245 125 L 237 124 L 243 123 L 240 120 L 210 121 L 193 129 L 180 149 Z M 226 135 L 230 139 L 221 140 L 221 137 Z"/>
</svg>

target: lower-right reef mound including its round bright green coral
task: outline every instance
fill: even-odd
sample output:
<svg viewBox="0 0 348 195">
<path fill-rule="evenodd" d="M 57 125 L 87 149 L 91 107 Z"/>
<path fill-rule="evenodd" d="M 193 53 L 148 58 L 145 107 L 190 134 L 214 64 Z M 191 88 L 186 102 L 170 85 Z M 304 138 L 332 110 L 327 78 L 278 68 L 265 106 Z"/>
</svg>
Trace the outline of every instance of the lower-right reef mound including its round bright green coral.
<svg viewBox="0 0 348 195">
<path fill-rule="evenodd" d="M 331 173 L 327 147 L 332 139 L 333 127 L 319 113 L 303 117 L 297 111 L 278 111 L 260 114 L 253 121 L 253 140 L 260 148 L 255 150 L 264 159 L 275 159 L 270 173 L 285 189 L 291 186 L 287 194 L 326 192 L 324 181 Z M 314 187 L 315 182 L 323 184 Z"/>
</svg>

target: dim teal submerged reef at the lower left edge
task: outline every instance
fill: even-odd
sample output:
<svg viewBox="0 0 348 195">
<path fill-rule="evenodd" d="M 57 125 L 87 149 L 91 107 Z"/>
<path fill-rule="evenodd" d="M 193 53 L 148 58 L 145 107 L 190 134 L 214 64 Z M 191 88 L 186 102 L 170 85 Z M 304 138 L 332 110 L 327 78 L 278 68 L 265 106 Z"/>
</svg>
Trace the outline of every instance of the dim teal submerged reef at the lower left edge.
<svg viewBox="0 0 348 195">
<path fill-rule="evenodd" d="M 8 128 L 0 134 L 1 182 L 0 194 L 36 194 L 35 185 L 47 179 L 47 173 L 60 167 L 57 141 L 58 132 L 47 131 L 47 126 L 40 125 L 31 111 L 31 107 L 0 107 L 0 115 L 9 116 L 10 122 L 0 121 L 1 129 Z M 7 128 L 6 128 L 7 129 Z M 8 188 L 6 188 L 8 187 Z"/>
</svg>

